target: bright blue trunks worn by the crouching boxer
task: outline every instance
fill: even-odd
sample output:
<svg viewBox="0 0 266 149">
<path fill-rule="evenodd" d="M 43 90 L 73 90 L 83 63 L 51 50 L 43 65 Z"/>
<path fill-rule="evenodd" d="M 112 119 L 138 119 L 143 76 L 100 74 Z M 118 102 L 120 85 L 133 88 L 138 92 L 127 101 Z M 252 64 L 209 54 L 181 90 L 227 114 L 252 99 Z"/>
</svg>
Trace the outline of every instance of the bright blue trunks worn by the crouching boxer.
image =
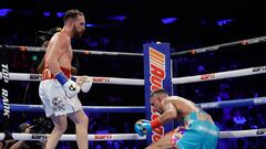
<svg viewBox="0 0 266 149">
<path fill-rule="evenodd" d="M 186 129 L 184 135 L 178 132 L 172 137 L 173 147 L 178 149 L 216 149 L 219 129 L 208 114 L 203 110 L 193 111 L 185 117 Z M 178 139 L 176 139 L 178 138 Z"/>
</svg>

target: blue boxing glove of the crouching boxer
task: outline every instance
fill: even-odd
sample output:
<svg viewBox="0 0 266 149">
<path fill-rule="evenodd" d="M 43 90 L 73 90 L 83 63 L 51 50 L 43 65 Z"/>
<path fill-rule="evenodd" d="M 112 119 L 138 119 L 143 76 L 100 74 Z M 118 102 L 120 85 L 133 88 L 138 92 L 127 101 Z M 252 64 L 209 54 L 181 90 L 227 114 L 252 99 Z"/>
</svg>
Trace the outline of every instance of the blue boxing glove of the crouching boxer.
<svg viewBox="0 0 266 149">
<path fill-rule="evenodd" d="M 151 123 L 150 120 L 146 120 L 146 119 L 137 120 L 135 123 L 134 129 L 140 136 L 144 136 L 144 135 L 147 135 L 149 132 L 152 132 Z"/>
</svg>

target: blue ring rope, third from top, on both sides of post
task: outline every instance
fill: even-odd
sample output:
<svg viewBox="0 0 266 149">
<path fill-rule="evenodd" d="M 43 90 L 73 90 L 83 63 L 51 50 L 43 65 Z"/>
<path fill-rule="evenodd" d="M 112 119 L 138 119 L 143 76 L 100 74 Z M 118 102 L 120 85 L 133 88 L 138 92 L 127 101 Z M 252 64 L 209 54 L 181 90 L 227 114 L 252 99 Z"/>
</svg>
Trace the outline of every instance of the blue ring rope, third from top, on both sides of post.
<svg viewBox="0 0 266 149">
<path fill-rule="evenodd" d="M 257 106 L 265 105 L 266 97 L 232 99 L 223 102 L 200 103 L 196 104 L 203 109 L 208 108 L 224 108 L 224 107 L 242 107 L 242 106 Z M 10 104 L 12 111 L 44 111 L 42 105 L 21 105 Z M 89 113 L 145 113 L 144 106 L 83 106 L 83 109 Z M 3 106 L 0 104 L 0 110 Z"/>
</svg>

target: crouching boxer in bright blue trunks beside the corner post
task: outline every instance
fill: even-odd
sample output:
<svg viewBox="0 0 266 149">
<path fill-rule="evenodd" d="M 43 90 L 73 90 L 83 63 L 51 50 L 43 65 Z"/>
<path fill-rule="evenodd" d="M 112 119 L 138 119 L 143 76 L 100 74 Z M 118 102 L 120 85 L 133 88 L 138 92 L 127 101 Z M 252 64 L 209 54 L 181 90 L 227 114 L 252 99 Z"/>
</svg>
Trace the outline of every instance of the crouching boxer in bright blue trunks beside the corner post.
<svg viewBox="0 0 266 149">
<path fill-rule="evenodd" d="M 146 149 L 216 149 L 219 129 L 212 117 L 200 109 L 194 103 L 178 96 L 168 96 L 164 89 L 154 91 L 151 105 L 161 114 L 153 120 L 141 119 L 135 124 L 140 136 L 172 119 L 184 118 L 184 126 L 166 134 L 163 138 L 151 143 Z"/>
</svg>

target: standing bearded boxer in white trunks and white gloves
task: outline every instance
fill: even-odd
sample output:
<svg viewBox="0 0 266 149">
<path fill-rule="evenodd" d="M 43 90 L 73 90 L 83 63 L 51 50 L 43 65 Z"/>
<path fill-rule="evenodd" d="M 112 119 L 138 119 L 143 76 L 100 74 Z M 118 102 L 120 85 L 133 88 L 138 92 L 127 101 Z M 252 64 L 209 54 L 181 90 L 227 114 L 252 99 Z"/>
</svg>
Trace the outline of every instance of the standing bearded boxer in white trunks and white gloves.
<svg viewBox="0 0 266 149">
<path fill-rule="evenodd" d="M 45 148 L 55 149 L 60 137 L 68 128 L 66 117 L 69 117 L 75 124 L 78 147 L 88 149 L 89 118 L 82 109 L 78 94 L 80 89 L 89 92 L 92 81 L 86 76 L 78 77 L 76 81 L 71 79 L 73 55 L 71 39 L 82 35 L 85 30 L 85 19 L 81 11 L 68 10 L 63 21 L 62 31 L 55 33 L 48 44 L 39 87 L 45 114 L 54 124 Z"/>
</svg>

